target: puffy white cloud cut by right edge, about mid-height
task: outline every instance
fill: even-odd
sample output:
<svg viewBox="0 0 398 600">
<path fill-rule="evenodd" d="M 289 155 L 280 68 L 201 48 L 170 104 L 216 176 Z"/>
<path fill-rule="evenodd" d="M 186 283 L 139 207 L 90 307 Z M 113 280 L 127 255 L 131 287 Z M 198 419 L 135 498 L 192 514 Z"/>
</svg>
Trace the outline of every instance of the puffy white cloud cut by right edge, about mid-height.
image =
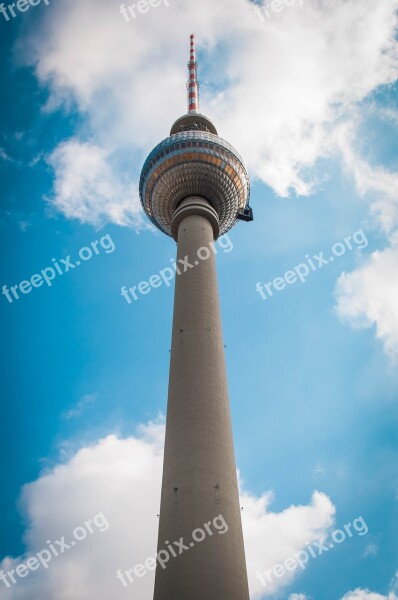
<svg viewBox="0 0 398 600">
<path fill-rule="evenodd" d="M 354 328 L 375 326 L 392 357 L 398 355 L 398 246 L 374 252 L 337 283 L 337 312 Z"/>
</svg>

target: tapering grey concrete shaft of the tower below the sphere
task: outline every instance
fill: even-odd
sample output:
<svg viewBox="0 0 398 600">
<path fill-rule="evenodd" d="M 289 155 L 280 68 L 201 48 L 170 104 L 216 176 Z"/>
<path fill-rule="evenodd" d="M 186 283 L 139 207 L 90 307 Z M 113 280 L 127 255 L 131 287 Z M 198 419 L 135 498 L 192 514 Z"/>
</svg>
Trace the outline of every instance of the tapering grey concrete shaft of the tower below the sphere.
<svg viewBox="0 0 398 600">
<path fill-rule="evenodd" d="M 189 198 L 173 227 L 181 270 L 186 260 L 198 264 L 175 284 L 158 551 L 181 538 L 189 549 L 179 554 L 174 546 L 178 555 L 164 569 L 157 565 L 154 600 L 249 600 L 213 246 L 217 213 Z"/>
</svg>

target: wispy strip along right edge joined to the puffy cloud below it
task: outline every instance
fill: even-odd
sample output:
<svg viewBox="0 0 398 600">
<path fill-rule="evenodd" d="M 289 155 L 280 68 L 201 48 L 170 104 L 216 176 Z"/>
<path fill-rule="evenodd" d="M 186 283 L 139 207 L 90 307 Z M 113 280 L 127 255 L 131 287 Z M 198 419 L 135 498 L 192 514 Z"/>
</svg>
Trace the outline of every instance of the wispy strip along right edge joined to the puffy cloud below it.
<svg viewBox="0 0 398 600">
<path fill-rule="evenodd" d="M 394 122 L 395 113 L 382 111 Z M 354 150 L 360 120 L 344 123 L 335 130 L 336 144 L 347 172 L 358 191 L 371 198 L 373 223 L 387 236 L 390 246 L 374 252 L 351 273 L 343 273 L 336 286 L 337 312 L 354 328 L 375 326 L 376 336 L 390 357 L 398 356 L 398 173 L 374 166 Z"/>
</svg>

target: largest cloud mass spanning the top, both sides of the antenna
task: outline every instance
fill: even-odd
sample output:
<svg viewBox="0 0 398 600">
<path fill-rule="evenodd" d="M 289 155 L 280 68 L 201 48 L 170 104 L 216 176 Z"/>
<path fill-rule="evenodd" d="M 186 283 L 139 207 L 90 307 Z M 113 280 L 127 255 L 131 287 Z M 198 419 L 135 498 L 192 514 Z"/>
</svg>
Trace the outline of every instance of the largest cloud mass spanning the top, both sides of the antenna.
<svg viewBox="0 0 398 600">
<path fill-rule="evenodd" d="M 248 0 L 174 0 L 126 23 L 107 0 L 68 0 L 46 11 L 21 48 L 50 86 L 49 107 L 76 103 L 96 144 L 138 153 L 137 177 L 145 153 L 185 111 L 194 29 L 208 63 L 203 111 L 255 177 L 282 196 L 309 194 L 308 168 L 334 152 L 337 120 L 350 122 L 357 103 L 397 77 L 397 7 L 308 0 L 261 22 Z"/>
</svg>

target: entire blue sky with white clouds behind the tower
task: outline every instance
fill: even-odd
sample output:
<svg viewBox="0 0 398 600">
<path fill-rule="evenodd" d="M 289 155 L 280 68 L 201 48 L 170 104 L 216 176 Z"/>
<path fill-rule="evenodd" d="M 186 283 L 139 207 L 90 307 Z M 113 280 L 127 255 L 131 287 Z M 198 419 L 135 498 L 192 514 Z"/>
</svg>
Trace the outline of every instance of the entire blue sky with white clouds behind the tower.
<svg viewBox="0 0 398 600">
<path fill-rule="evenodd" d="M 175 254 L 137 187 L 186 110 L 191 32 L 201 110 L 252 182 L 217 259 L 251 598 L 396 600 L 398 0 L 3 11 L 0 573 L 102 525 L 0 600 L 152 597 L 153 572 L 116 571 L 156 549 L 173 288 L 120 290 Z"/>
</svg>

